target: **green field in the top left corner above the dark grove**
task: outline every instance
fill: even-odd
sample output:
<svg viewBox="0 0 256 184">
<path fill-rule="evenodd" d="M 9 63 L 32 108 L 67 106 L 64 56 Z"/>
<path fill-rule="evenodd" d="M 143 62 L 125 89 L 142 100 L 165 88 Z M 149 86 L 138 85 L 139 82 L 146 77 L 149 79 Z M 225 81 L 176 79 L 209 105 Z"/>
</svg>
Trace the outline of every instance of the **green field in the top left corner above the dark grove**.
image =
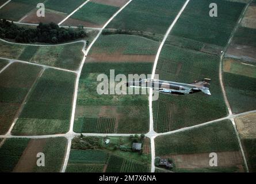
<svg viewBox="0 0 256 184">
<path fill-rule="evenodd" d="M 24 17 L 29 11 L 36 8 L 40 0 L 14 0 L 3 6 L 0 11 L 0 18 L 18 21 Z"/>
</svg>

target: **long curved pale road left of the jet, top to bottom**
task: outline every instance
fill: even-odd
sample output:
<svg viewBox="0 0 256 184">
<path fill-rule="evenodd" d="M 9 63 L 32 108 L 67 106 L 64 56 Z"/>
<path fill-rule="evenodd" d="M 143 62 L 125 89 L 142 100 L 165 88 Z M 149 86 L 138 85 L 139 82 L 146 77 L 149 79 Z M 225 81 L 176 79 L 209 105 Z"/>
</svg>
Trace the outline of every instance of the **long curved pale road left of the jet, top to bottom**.
<svg viewBox="0 0 256 184">
<path fill-rule="evenodd" d="M 82 69 L 83 69 L 83 65 L 85 64 L 85 60 L 86 60 L 86 56 L 87 54 L 89 53 L 91 47 L 93 47 L 95 41 L 100 37 L 102 31 L 106 28 L 106 26 L 109 24 L 109 22 L 111 22 L 127 5 L 129 5 L 129 3 L 132 2 L 132 0 L 129 0 L 127 3 L 125 3 L 124 6 L 122 6 L 118 11 L 116 11 L 116 13 L 113 14 L 112 17 L 110 17 L 110 19 L 104 24 L 104 26 L 100 29 L 100 31 L 98 32 L 97 36 L 93 39 L 93 41 L 90 43 L 89 47 L 86 49 L 85 51 L 85 47 L 86 47 L 86 43 L 85 43 L 85 46 L 83 47 L 82 51 L 83 53 L 85 54 L 83 56 L 83 60 L 81 62 L 81 65 L 79 67 L 79 70 L 78 70 L 78 74 L 77 74 L 77 80 L 75 82 L 75 92 L 74 92 L 74 98 L 73 98 L 73 102 L 72 102 L 72 114 L 71 114 L 71 120 L 70 120 L 70 130 L 68 131 L 68 133 L 74 133 L 73 132 L 73 127 L 74 127 L 74 120 L 75 120 L 75 108 L 77 106 L 77 94 L 78 94 L 78 87 L 79 87 L 79 79 L 80 79 L 80 76 L 81 76 L 81 72 L 82 72 Z M 68 139 L 69 140 L 69 139 Z M 69 146 L 71 147 L 71 144 L 69 144 Z M 67 148 L 67 151 L 69 150 L 70 151 L 70 147 Z M 67 163 L 68 163 L 68 158 L 69 158 L 69 152 L 66 153 L 66 157 L 65 157 L 65 160 L 64 160 L 64 164 L 63 164 L 63 169 L 62 169 L 62 173 L 64 173 L 66 171 L 66 168 L 67 168 Z"/>
</svg>

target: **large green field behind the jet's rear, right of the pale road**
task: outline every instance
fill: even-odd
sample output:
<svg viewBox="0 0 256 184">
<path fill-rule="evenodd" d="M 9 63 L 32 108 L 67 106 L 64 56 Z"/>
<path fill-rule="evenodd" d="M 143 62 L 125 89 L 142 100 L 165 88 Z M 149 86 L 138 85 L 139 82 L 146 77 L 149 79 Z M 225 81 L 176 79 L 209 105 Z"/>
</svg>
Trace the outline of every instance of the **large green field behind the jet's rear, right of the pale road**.
<svg viewBox="0 0 256 184">
<path fill-rule="evenodd" d="M 182 83 L 211 78 L 211 96 L 159 94 L 153 102 L 156 132 L 173 131 L 226 116 L 219 83 L 219 57 L 165 44 L 156 66 L 159 79 Z"/>
</svg>

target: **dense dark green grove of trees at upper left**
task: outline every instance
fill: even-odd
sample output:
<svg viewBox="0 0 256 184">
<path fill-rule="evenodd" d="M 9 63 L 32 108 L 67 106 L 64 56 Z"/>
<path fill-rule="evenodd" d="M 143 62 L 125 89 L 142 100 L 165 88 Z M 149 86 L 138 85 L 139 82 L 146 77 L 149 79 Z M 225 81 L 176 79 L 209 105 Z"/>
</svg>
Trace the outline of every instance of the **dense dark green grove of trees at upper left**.
<svg viewBox="0 0 256 184">
<path fill-rule="evenodd" d="M 77 29 L 66 29 L 51 22 L 49 24 L 40 23 L 36 28 L 27 28 L 10 21 L 0 21 L 0 37 L 12 39 L 18 43 L 63 43 L 86 36 L 82 26 Z"/>
</svg>

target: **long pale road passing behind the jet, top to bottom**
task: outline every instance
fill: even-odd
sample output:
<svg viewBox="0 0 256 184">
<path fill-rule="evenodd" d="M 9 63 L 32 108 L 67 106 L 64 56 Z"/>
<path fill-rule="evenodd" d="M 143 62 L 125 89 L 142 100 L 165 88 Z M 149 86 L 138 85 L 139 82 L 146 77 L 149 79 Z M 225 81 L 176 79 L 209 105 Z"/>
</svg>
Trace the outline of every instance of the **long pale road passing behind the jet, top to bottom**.
<svg viewBox="0 0 256 184">
<path fill-rule="evenodd" d="M 162 42 L 161 42 L 161 44 L 160 44 L 160 46 L 158 48 L 158 52 L 156 53 L 155 62 L 154 62 L 154 66 L 153 66 L 153 69 L 152 69 L 151 79 L 155 78 L 155 70 L 156 70 L 156 66 L 157 66 L 157 63 L 158 63 L 158 59 L 159 59 L 160 53 L 161 53 L 162 48 L 163 48 L 163 44 L 165 44 L 165 41 L 166 41 L 167 37 L 169 36 L 169 34 L 170 34 L 171 30 L 173 29 L 174 25 L 176 24 L 177 20 L 179 19 L 179 17 L 181 16 L 183 11 L 185 10 L 185 8 L 188 5 L 189 1 L 190 0 L 187 0 L 184 3 L 184 5 L 182 6 L 181 10 L 179 11 L 177 16 L 173 20 L 172 24 L 167 29 L 167 32 L 165 33 L 165 36 L 163 37 L 163 40 L 162 40 Z M 150 89 L 150 95 L 149 95 L 149 98 L 148 98 L 149 110 L 150 110 L 150 132 L 148 132 L 148 135 L 156 133 L 154 131 L 154 118 L 153 118 L 153 109 L 152 109 L 152 95 L 153 95 L 153 90 Z M 154 173 L 154 172 L 155 172 L 155 143 L 154 143 L 154 139 L 151 138 L 151 173 Z"/>
</svg>

